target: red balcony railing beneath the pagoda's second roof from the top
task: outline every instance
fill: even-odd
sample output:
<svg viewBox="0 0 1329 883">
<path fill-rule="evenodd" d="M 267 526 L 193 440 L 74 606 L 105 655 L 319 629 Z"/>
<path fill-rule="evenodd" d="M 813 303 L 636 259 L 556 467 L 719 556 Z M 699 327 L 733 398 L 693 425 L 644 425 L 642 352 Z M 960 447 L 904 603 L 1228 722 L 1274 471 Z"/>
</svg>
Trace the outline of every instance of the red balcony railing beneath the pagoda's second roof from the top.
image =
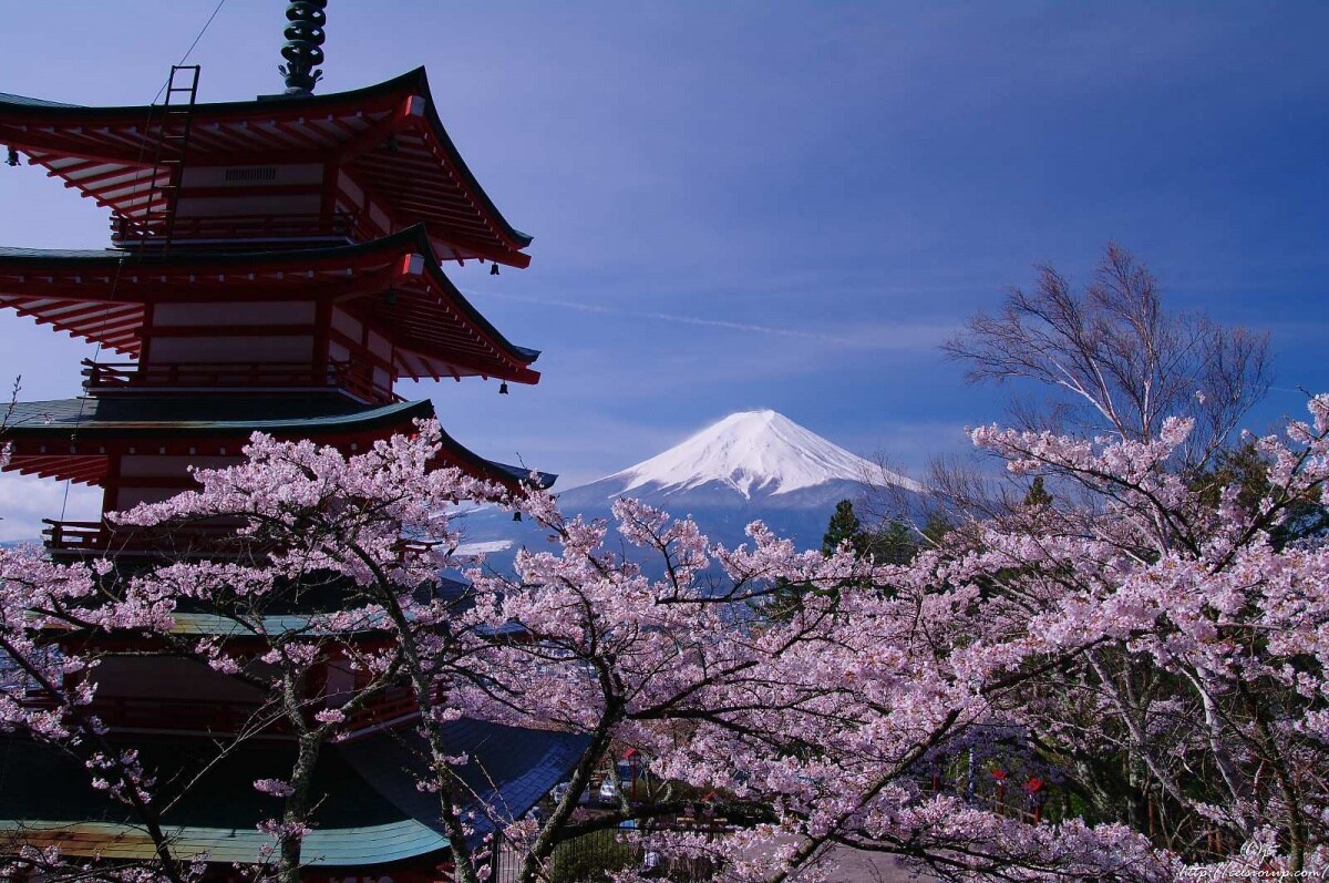
<svg viewBox="0 0 1329 883">
<path fill-rule="evenodd" d="M 84 359 L 84 388 L 117 390 L 338 390 L 365 403 L 401 402 L 389 387 L 376 383 L 373 370 L 361 363 L 330 362 L 217 362 L 217 363 L 108 363 Z"/>
</svg>

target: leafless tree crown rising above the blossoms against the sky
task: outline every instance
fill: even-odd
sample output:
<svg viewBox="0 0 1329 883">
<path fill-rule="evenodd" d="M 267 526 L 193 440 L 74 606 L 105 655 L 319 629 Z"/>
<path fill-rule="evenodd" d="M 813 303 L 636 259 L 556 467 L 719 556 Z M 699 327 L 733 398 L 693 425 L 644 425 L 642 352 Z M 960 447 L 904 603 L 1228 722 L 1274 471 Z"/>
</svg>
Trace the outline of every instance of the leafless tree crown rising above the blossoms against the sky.
<svg viewBox="0 0 1329 883">
<path fill-rule="evenodd" d="M 942 347 L 971 383 L 1033 380 L 1051 407 L 1015 404 L 1026 428 L 1158 438 L 1168 416 L 1191 416 L 1189 468 L 1203 468 L 1269 386 L 1268 334 L 1170 313 L 1158 281 L 1110 243 L 1082 293 L 1051 266 L 1031 291 L 1011 289 Z"/>
</svg>

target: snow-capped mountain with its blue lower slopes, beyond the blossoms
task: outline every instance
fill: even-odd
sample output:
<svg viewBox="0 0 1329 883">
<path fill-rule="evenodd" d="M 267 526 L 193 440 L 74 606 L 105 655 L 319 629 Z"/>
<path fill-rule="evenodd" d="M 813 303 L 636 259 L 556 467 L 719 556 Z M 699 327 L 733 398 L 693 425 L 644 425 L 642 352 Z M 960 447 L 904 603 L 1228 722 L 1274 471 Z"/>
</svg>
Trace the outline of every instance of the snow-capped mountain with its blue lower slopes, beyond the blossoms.
<svg viewBox="0 0 1329 883">
<path fill-rule="evenodd" d="M 921 491 L 916 481 L 767 410 L 731 414 L 663 453 L 561 492 L 558 501 L 566 515 L 607 517 L 614 500 L 637 497 L 692 516 L 711 540 L 727 545 L 743 543 L 747 524 L 760 519 L 797 545 L 816 548 L 836 503 L 885 484 Z M 502 540 L 513 548 L 544 541 L 542 532 L 497 513 L 472 513 L 461 527 L 469 543 L 489 552 L 492 564 L 513 551 L 498 549 Z"/>
</svg>

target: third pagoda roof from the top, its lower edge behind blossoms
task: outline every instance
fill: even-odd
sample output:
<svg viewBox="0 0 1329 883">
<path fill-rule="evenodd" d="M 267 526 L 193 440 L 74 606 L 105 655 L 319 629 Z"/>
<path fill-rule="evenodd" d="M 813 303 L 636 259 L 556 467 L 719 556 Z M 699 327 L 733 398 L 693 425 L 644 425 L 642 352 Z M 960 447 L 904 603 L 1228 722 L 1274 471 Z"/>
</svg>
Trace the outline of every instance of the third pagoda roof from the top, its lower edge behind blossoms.
<svg viewBox="0 0 1329 883">
<path fill-rule="evenodd" d="M 282 439 L 335 443 L 372 440 L 391 432 L 411 432 L 412 422 L 433 416 L 433 403 L 395 402 L 367 406 L 339 395 L 137 395 L 20 402 L 5 426 L 13 444 L 7 471 L 102 484 L 114 451 L 159 451 L 186 456 L 215 456 L 209 443 L 234 439 L 231 455 L 254 432 Z M 529 481 L 522 467 L 486 460 L 440 430 L 437 464 L 456 465 L 509 487 Z M 181 448 L 177 451 L 177 448 Z M 557 476 L 534 473 L 541 487 Z"/>
</svg>

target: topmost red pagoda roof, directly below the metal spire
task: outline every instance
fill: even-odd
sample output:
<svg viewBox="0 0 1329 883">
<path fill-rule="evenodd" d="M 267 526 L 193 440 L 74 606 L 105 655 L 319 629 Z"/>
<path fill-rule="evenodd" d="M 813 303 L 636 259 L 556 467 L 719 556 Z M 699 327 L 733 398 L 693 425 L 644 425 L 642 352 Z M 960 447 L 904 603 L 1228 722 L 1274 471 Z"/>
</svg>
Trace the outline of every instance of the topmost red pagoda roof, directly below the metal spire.
<svg viewBox="0 0 1329 883">
<path fill-rule="evenodd" d="M 443 126 L 424 68 L 377 85 L 310 96 L 195 104 L 190 166 L 332 162 L 389 206 L 399 226 L 424 223 L 448 258 L 525 267 L 532 237 L 512 226 Z M 165 207 L 162 106 L 84 108 L 0 93 L 0 144 L 65 186 L 134 221 Z M 155 195 L 149 205 L 149 197 Z"/>
</svg>

